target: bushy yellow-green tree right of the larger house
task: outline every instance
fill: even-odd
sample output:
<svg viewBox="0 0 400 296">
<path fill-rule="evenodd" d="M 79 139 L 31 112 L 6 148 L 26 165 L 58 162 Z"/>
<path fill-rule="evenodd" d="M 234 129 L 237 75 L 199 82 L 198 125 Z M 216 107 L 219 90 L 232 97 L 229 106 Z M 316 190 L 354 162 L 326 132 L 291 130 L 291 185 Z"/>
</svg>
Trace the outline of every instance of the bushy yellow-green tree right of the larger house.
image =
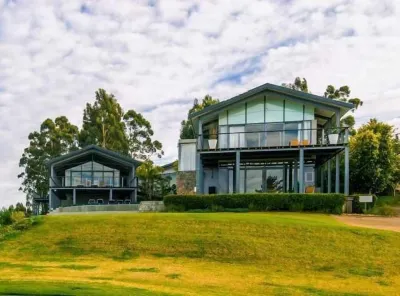
<svg viewBox="0 0 400 296">
<path fill-rule="evenodd" d="M 391 185 L 397 165 L 391 125 L 371 119 L 350 138 L 350 151 L 353 191 L 380 193 Z"/>
</svg>

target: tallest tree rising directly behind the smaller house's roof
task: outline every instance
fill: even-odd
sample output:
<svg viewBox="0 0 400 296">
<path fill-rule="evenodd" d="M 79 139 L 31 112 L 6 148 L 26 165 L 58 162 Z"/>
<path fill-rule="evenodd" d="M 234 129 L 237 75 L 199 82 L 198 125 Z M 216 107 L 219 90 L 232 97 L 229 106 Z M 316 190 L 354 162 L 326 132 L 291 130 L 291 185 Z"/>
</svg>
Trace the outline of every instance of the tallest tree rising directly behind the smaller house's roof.
<svg viewBox="0 0 400 296">
<path fill-rule="evenodd" d="M 96 100 L 87 103 L 79 135 L 81 147 L 95 144 L 105 149 L 128 154 L 129 144 L 122 121 L 123 111 L 113 94 L 96 91 Z"/>
</svg>

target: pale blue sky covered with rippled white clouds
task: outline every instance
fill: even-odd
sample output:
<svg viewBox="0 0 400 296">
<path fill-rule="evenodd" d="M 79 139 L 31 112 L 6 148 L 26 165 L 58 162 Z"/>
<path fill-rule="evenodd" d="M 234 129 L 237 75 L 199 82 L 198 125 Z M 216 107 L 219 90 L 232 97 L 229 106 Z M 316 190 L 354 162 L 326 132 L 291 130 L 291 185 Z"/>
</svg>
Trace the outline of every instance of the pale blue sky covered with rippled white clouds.
<svg viewBox="0 0 400 296">
<path fill-rule="evenodd" d="M 400 127 L 399 69 L 397 0 L 0 0 L 0 206 L 24 200 L 29 132 L 80 125 L 98 88 L 145 114 L 167 162 L 194 98 L 296 76 L 314 94 L 347 84 L 359 123 Z"/>
</svg>

